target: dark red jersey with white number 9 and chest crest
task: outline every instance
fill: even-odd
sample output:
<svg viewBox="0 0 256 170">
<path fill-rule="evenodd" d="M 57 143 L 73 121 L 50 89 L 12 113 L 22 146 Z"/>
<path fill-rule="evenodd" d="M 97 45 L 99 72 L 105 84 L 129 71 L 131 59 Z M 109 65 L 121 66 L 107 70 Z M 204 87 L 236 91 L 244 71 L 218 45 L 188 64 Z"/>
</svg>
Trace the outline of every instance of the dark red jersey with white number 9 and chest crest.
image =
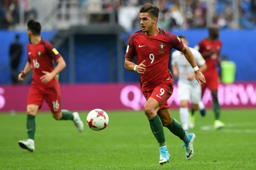
<svg viewBox="0 0 256 170">
<path fill-rule="evenodd" d="M 150 91 L 158 84 L 170 78 L 168 69 L 169 56 L 172 48 L 181 51 L 183 42 L 172 33 L 164 30 L 159 31 L 155 37 L 149 37 L 142 30 L 133 33 L 128 41 L 125 57 L 136 57 L 137 64 L 144 60 L 146 72 L 140 74 L 140 84 L 143 91 Z M 171 76 L 173 82 L 173 77 Z"/>
</svg>

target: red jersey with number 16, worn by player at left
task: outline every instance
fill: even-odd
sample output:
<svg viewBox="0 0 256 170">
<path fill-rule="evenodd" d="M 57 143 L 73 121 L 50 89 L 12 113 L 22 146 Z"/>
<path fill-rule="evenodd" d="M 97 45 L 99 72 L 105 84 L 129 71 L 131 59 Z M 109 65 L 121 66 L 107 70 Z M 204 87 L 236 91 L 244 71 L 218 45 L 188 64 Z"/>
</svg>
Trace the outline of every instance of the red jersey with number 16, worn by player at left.
<svg viewBox="0 0 256 170">
<path fill-rule="evenodd" d="M 33 67 L 33 82 L 42 86 L 54 86 L 58 83 L 58 79 L 55 77 L 48 83 L 42 83 L 40 78 L 45 75 L 42 71 L 52 72 L 54 70 L 54 61 L 59 59 L 61 55 L 53 47 L 53 45 L 45 40 L 41 40 L 37 45 L 29 43 L 28 50 L 28 62 Z"/>
</svg>

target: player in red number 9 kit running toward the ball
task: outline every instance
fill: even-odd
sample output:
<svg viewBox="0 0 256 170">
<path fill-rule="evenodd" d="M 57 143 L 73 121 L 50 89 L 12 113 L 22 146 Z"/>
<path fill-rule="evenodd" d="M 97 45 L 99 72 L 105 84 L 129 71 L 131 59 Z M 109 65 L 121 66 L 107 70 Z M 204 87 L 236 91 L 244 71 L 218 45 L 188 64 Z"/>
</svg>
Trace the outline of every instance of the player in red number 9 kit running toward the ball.
<svg viewBox="0 0 256 170">
<path fill-rule="evenodd" d="M 173 76 L 168 69 L 172 48 L 182 51 L 195 72 L 198 83 L 205 83 L 193 54 L 179 37 L 159 29 L 157 26 L 159 8 L 147 3 L 140 8 L 142 30 L 133 33 L 128 41 L 125 54 L 125 69 L 140 74 L 141 90 L 146 98 L 144 112 L 150 128 L 159 143 L 159 163 L 169 162 L 170 154 L 166 147 L 163 126 L 184 141 L 186 158 L 193 156 L 195 134 L 184 131 L 181 124 L 171 117 L 167 99 L 173 92 Z M 133 62 L 136 56 L 136 65 Z"/>
</svg>

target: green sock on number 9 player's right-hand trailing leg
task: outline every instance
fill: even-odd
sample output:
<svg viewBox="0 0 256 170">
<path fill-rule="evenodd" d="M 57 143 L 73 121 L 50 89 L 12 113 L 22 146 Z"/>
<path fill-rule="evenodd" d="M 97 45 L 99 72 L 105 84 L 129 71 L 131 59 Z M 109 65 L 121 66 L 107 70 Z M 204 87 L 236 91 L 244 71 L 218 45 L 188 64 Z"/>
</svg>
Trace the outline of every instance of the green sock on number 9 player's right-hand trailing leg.
<svg viewBox="0 0 256 170">
<path fill-rule="evenodd" d="M 180 122 L 175 118 L 172 117 L 172 123 L 167 126 L 167 128 L 181 140 L 185 140 L 187 138 L 187 132 L 181 127 Z"/>
</svg>

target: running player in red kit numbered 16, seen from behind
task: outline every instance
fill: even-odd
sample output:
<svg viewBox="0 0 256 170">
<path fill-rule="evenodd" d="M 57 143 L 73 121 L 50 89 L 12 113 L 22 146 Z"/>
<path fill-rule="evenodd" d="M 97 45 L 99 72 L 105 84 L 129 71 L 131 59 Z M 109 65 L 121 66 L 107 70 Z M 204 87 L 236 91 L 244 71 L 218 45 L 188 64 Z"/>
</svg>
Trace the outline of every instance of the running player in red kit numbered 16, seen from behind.
<svg viewBox="0 0 256 170">
<path fill-rule="evenodd" d="M 47 102 L 56 120 L 73 120 L 79 131 L 83 130 L 84 125 L 77 112 L 70 113 L 68 110 L 61 110 L 60 87 L 56 75 L 66 67 L 64 59 L 51 43 L 42 39 L 39 22 L 30 20 L 27 27 L 30 41 L 27 46 L 28 61 L 18 79 L 23 81 L 25 75 L 33 70 L 33 81 L 27 98 L 28 139 L 20 140 L 19 145 L 33 152 L 35 150 L 35 115 L 43 100 Z M 54 61 L 57 62 L 56 68 Z"/>
</svg>

